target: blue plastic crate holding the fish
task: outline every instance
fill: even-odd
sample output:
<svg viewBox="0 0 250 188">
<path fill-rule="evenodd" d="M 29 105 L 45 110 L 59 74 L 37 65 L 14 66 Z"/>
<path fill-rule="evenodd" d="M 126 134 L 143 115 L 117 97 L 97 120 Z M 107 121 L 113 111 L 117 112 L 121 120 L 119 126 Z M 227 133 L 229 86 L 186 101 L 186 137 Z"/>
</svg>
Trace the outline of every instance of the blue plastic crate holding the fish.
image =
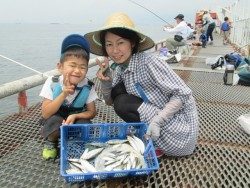
<svg viewBox="0 0 250 188">
<path fill-rule="evenodd" d="M 111 139 L 125 139 L 129 133 L 143 138 L 146 132 L 144 123 L 99 123 L 74 124 L 61 126 L 60 173 L 67 182 L 99 180 L 115 177 L 148 175 L 159 168 L 155 149 L 151 140 L 147 141 L 144 159 L 147 167 L 121 171 L 103 171 L 95 173 L 67 174 L 68 158 L 80 158 L 84 146 L 89 142 L 106 142 Z M 142 139 L 143 140 L 143 139 Z"/>
</svg>

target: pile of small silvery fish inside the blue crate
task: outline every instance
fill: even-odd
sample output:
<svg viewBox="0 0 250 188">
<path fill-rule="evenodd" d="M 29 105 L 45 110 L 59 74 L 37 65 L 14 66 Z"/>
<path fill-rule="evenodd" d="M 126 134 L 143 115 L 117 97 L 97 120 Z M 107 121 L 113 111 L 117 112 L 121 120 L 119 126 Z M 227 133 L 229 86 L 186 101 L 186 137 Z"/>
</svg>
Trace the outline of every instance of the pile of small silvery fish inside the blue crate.
<svg viewBox="0 0 250 188">
<path fill-rule="evenodd" d="M 90 148 L 95 149 L 90 149 Z M 136 136 L 127 139 L 113 139 L 105 143 L 87 143 L 85 150 L 77 158 L 69 158 L 67 174 L 94 173 L 146 168 L 143 157 L 145 145 Z"/>
</svg>

